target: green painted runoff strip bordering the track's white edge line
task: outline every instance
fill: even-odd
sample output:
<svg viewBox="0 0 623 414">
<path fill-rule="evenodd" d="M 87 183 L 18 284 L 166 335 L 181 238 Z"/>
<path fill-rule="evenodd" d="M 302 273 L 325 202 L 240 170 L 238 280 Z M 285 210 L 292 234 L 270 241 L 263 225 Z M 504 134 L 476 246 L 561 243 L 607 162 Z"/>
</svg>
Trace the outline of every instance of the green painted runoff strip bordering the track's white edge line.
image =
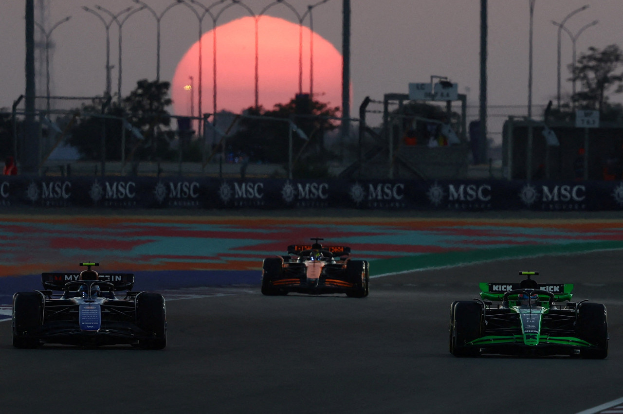
<svg viewBox="0 0 623 414">
<path fill-rule="evenodd" d="M 497 260 L 554 254 L 591 252 L 593 250 L 614 250 L 623 248 L 623 241 L 579 242 L 560 245 L 531 245 L 517 247 L 487 248 L 465 252 L 427 253 L 391 259 L 369 260 L 370 275 L 385 275 L 403 271 L 465 265 L 478 261 Z"/>
</svg>

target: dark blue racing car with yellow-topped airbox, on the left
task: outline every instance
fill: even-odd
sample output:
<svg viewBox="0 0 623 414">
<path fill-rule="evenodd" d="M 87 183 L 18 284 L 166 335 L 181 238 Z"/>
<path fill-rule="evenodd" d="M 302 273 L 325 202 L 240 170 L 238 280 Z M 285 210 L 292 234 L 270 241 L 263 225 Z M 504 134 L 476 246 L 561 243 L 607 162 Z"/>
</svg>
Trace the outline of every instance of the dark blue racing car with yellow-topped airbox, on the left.
<svg viewBox="0 0 623 414">
<path fill-rule="evenodd" d="M 166 308 L 158 293 L 131 290 L 132 273 L 42 273 L 44 289 L 13 295 L 13 346 L 42 344 L 166 347 Z M 125 293 L 118 294 L 119 291 Z"/>
</svg>

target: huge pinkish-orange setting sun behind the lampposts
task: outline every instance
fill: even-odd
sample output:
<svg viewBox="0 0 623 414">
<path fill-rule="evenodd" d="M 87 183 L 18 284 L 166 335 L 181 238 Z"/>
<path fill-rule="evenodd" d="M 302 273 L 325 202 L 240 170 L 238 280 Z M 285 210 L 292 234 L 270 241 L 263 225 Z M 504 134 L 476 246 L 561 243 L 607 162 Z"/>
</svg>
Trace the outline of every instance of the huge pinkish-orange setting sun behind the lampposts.
<svg viewBox="0 0 623 414">
<path fill-rule="evenodd" d="M 258 102 L 266 109 L 287 103 L 299 92 L 299 53 L 302 50 L 302 92 L 310 92 L 310 29 L 271 16 L 258 25 Z M 330 106 L 341 106 L 340 52 L 313 34 L 313 95 Z M 202 112 L 213 111 L 214 31 L 202 37 Z M 243 17 L 216 28 L 217 111 L 240 113 L 255 105 L 255 19 Z M 195 79 L 191 93 L 188 79 Z M 184 54 L 171 83 L 176 115 L 192 115 L 199 103 L 199 42 Z M 194 105 L 191 104 L 194 100 Z M 194 113 L 195 116 L 198 113 Z"/>
</svg>

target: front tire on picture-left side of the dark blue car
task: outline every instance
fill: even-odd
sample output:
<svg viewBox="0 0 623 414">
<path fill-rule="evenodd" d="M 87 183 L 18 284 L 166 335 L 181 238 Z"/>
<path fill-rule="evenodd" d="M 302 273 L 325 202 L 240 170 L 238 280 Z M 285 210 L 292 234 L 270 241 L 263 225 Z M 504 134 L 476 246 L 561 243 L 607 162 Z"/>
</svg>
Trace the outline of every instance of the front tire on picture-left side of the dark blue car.
<svg viewBox="0 0 623 414">
<path fill-rule="evenodd" d="M 13 346 L 32 349 L 40 341 L 29 334 L 41 326 L 42 296 L 36 292 L 20 292 L 13 296 Z"/>
</svg>

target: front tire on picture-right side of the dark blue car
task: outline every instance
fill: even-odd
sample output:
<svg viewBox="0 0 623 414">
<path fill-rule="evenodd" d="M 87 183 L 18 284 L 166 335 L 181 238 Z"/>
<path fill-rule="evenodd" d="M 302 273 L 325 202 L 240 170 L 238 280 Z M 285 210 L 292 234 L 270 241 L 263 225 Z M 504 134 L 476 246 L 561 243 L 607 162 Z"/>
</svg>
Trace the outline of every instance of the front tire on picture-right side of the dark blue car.
<svg viewBox="0 0 623 414">
<path fill-rule="evenodd" d="M 141 339 L 142 349 L 166 347 L 166 306 L 158 293 L 141 293 L 136 296 L 136 326 L 151 333 L 153 337 Z"/>
</svg>

